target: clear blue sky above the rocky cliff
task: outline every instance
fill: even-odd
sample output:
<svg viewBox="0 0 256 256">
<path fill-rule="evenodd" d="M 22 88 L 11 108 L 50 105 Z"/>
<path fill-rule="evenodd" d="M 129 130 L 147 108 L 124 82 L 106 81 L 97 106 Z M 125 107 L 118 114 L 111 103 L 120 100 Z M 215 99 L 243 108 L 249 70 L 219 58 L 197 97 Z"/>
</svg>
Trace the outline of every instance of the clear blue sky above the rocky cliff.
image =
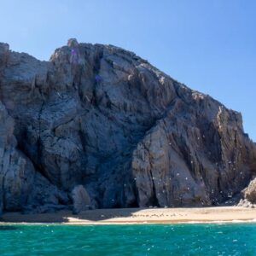
<svg viewBox="0 0 256 256">
<path fill-rule="evenodd" d="M 0 28 L 40 60 L 68 38 L 130 49 L 240 111 L 256 141 L 254 0 L 0 0 Z"/>
</svg>

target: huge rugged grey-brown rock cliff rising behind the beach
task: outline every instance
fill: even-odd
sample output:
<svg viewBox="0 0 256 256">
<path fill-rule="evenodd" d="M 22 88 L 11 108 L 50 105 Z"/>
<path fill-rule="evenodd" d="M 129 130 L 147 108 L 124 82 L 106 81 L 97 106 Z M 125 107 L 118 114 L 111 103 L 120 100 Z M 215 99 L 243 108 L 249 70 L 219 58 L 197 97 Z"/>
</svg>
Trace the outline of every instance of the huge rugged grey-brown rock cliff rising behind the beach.
<svg viewBox="0 0 256 256">
<path fill-rule="evenodd" d="M 218 205 L 256 172 L 241 114 L 111 45 L 56 49 L 50 61 L 0 44 L 4 211 Z"/>
</svg>

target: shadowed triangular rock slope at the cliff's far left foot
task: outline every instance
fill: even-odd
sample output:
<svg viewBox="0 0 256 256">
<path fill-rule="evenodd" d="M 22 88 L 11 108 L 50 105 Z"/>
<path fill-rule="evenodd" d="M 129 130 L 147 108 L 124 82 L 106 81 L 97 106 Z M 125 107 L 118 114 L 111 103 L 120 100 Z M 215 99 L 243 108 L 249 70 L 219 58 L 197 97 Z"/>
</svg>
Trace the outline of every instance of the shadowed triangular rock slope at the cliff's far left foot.
<svg viewBox="0 0 256 256">
<path fill-rule="evenodd" d="M 0 202 L 1 210 L 38 210 L 41 205 L 68 202 L 65 193 L 36 172 L 32 161 L 17 148 L 15 122 L 0 103 Z M 40 211 L 42 212 L 42 211 Z"/>
</svg>

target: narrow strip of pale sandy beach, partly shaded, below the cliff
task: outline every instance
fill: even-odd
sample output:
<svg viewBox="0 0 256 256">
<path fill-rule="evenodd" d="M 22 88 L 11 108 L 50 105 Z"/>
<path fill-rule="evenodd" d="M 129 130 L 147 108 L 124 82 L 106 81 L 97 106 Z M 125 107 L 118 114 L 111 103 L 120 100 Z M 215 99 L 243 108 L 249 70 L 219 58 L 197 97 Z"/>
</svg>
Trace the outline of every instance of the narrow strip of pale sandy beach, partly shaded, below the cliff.
<svg viewBox="0 0 256 256">
<path fill-rule="evenodd" d="M 3 214 L 1 223 L 132 224 L 256 221 L 256 208 L 128 208 L 97 209 L 73 215 L 70 211 L 42 214 Z"/>
</svg>

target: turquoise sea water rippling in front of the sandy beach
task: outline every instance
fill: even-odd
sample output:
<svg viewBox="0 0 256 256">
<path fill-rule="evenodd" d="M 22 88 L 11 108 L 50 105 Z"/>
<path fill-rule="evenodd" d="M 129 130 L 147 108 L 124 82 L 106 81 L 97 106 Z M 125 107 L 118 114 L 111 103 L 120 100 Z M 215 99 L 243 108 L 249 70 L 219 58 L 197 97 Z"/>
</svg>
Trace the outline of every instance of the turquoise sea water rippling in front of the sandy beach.
<svg viewBox="0 0 256 256">
<path fill-rule="evenodd" d="M 256 224 L 0 225 L 0 255 L 256 255 Z"/>
</svg>

